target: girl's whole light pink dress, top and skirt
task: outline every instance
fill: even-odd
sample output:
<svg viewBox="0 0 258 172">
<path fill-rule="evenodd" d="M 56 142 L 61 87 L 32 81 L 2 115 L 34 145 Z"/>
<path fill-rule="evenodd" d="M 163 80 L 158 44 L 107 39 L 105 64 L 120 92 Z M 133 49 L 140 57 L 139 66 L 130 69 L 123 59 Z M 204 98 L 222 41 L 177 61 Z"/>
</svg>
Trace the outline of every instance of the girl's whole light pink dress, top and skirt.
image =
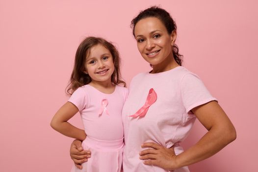
<svg viewBox="0 0 258 172">
<path fill-rule="evenodd" d="M 91 150 L 91 158 L 75 166 L 72 172 L 120 172 L 124 148 L 122 108 L 128 89 L 116 86 L 111 94 L 100 92 L 90 85 L 79 87 L 69 99 L 77 106 L 81 115 L 86 139 L 84 150 Z"/>
</svg>

